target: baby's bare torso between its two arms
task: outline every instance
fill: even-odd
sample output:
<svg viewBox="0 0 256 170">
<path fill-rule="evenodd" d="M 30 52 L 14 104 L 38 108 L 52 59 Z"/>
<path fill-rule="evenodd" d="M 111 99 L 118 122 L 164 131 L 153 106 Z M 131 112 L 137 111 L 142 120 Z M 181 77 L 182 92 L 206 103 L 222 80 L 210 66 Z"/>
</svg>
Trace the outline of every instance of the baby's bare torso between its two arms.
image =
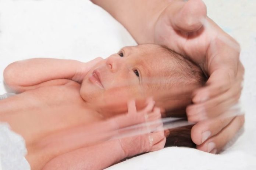
<svg viewBox="0 0 256 170">
<path fill-rule="evenodd" d="M 71 82 L 0 100 L 0 122 L 9 123 L 30 145 L 54 132 L 100 121 L 102 117 L 86 107 L 79 89 L 79 84 Z"/>
</svg>

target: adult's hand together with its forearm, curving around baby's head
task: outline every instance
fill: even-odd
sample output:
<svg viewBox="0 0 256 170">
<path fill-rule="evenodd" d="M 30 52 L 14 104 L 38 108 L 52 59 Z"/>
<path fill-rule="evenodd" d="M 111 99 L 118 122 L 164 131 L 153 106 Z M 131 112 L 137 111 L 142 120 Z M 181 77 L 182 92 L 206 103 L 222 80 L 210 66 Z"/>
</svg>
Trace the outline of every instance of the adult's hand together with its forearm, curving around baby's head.
<svg viewBox="0 0 256 170">
<path fill-rule="evenodd" d="M 244 68 L 239 44 L 206 16 L 203 1 L 92 1 L 122 23 L 138 44 L 165 45 L 209 76 L 206 86 L 193 93 L 187 116 L 198 122 L 191 131 L 198 149 L 220 151 L 244 122 L 242 115 L 237 116 L 239 110 L 228 111 L 241 95 Z M 233 115 L 225 116 L 227 112 Z"/>
</svg>

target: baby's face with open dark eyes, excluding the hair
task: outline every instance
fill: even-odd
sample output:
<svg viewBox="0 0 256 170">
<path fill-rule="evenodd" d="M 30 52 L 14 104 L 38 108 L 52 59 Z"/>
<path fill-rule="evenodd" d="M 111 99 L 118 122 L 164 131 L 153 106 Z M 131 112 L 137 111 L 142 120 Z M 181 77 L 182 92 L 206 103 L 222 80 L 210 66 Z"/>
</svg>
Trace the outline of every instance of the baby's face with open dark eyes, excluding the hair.
<svg viewBox="0 0 256 170">
<path fill-rule="evenodd" d="M 166 72 L 160 60 L 157 45 L 124 47 L 88 72 L 81 85 L 81 97 L 98 108 L 115 106 L 120 109 L 117 112 L 126 111 L 129 99 L 149 96 L 152 89 L 161 86 L 154 82 Z"/>
</svg>

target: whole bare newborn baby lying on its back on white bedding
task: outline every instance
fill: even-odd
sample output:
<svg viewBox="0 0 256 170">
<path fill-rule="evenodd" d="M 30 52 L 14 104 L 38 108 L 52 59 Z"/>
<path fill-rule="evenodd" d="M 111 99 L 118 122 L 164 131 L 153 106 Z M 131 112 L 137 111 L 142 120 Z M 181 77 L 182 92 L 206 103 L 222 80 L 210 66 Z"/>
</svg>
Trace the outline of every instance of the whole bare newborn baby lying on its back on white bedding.
<svg viewBox="0 0 256 170">
<path fill-rule="evenodd" d="M 88 63 L 46 58 L 15 62 L 5 69 L 4 80 L 19 94 L 0 100 L 0 122 L 24 137 L 32 170 L 75 170 L 103 169 L 163 148 L 163 131 L 94 145 L 72 135 L 111 129 L 113 122 L 119 127 L 141 123 L 145 115 L 152 121 L 160 112 L 163 117 L 175 115 L 191 103 L 191 91 L 205 77 L 170 49 L 144 44 Z M 145 102 L 150 96 L 156 107 L 152 100 Z"/>
</svg>

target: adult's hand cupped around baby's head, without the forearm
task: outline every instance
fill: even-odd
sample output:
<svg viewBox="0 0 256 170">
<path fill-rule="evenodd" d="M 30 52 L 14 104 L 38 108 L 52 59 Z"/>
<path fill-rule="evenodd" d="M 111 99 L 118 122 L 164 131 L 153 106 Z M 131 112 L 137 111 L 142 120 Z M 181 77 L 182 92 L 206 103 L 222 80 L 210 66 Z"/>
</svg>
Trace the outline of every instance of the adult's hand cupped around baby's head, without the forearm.
<svg viewBox="0 0 256 170">
<path fill-rule="evenodd" d="M 186 112 L 189 121 L 198 122 L 191 131 L 197 148 L 217 153 L 244 123 L 239 108 L 231 108 L 242 90 L 239 44 L 206 16 L 201 0 L 171 1 L 155 23 L 154 43 L 188 56 L 210 76 Z"/>
</svg>

